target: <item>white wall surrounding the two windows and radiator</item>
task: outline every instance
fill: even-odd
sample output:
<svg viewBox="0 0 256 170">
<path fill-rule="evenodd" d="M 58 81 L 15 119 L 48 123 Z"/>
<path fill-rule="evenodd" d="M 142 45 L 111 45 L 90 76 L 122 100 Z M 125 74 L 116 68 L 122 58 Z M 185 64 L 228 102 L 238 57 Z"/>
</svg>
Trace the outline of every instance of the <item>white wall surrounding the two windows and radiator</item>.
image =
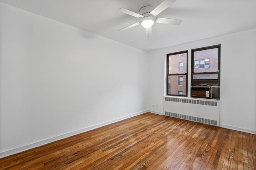
<svg viewBox="0 0 256 170">
<path fill-rule="evenodd" d="M 149 52 L 148 108 L 163 113 L 166 54 L 189 50 L 190 55 L 190 49 L 217 44 L 221 44 L 221 126 L 256 134 L 256 29 Z"/>
</svg>

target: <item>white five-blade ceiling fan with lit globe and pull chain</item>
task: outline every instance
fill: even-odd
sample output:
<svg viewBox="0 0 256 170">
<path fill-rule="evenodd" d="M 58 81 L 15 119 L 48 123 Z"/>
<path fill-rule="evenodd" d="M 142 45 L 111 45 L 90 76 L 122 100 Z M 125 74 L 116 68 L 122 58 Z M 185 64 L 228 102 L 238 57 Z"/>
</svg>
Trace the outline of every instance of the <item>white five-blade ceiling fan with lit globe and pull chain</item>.
<svg viewBox="0 0 256 170">
<path fill-rule="evenodd" d="M 160 14 L 162 11 L 164 11 L 166 8 L 168 8 L 170 5 L 172 5 L 174 2 L 176 2 L 176 0 L 164 0 L 156 8 L 154 8 L 152 6 L 144 6 L 144 7 L 140 8 L 140 11 L 139 11 L 140 14 L 137 14 L 136 12 L 132 12 L 125 8 L 118 9 L 119 12 L 123 12 L 124 14 L 128 14 L 130 16 L 134 16 L 134 17 L 143 19 L 140 22 L 136 22 L 136 23 L 129 25 L 128 27 L 124 27 L 123 29 L 120 29 L 118 31 L 125 31 L 132 27 L 135 27 L 136 25 L 141 24 L 144 28 L 146 28 L 146 34 L 147 34 L 147 31 L 149 34 L 151 34 L 152 33 L 151 26 L 155 22 L 156 23 L 172 24 L 172 25 L 180 25 L 182 20 L 176 20 L 176 19 L 171 19 L 171 18 L 155 18 L 158 14 Z"/>
</svg>

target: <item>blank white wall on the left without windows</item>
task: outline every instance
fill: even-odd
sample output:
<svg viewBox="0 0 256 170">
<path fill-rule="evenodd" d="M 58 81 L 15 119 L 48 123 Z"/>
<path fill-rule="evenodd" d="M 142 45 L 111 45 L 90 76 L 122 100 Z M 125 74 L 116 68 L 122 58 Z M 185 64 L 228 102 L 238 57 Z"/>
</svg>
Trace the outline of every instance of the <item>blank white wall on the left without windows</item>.
<svg viewBox="0 0 256 170">
<path fill-rule="evenodd" d="M 0 152 L 147 110 L 145 51 L 0 4 Z"/>
</svg>

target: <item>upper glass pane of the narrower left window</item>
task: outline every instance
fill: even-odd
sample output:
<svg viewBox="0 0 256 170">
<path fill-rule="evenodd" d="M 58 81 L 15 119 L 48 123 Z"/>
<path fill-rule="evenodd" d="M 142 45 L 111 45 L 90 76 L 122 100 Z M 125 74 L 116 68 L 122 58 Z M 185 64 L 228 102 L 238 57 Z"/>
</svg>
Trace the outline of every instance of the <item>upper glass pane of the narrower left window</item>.
<svg viewBox="0 0 256 170">
<path fill-rule="evenodd" d="M 182 55 L 181 55 L 182 54 Z M 169 72 L 168 74 L 187 73 L 187 53 L 169 55 Z"/>
</svg>

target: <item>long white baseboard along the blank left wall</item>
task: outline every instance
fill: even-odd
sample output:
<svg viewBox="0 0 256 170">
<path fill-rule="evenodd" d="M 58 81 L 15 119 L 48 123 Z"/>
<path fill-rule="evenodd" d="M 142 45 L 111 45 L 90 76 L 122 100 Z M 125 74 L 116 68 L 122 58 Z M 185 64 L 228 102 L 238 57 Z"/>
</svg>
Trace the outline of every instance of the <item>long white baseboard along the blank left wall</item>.
<svg viewBox="0 0 256 170">
<path fill-rule="evenodd" d="M 97 125 L 86 127 L 84 129 L 80 129 L 80 130 L 77 130 L 77 131 L 73 131 L 73 132 L 70 132 L 70 133 L 66 133 L 66 134 L 63 134 L 63 135 L 59 135 L 59 136 L 56 136 L 56 137 L 45 139 L 43 141 L 39 141 L 39 142 L 36 142 L 36 143 L 31 143 L 29 145 L 25 145 L 25 146 L 18 147 L 18 148 L 15 148 L 15 149 L 11 149 L 11 150 L 7 150 L 7 151 L 4 151 L 4 152 L 0 152 L 0 158 L 6 157 L 6 156 L 10 156 L 12 154 L 16 154 L 16 153 L 19 153 L 19 152 L 23 152 L 25 150 L 29 150 L 29 149 L 32 149 L 32 148 L 36 148 L 36 147 L 39 147 L 39 146 L 42 146 L 42 145 L 45 145 L 45 144 L 48 144 L 48 143 L 52 143 L 52 142 L 58 141 L 60 139 L 64 139 L 64 138 L 67 138 L 67 137 L 70 137 L 70 136 L 77 135 L 79 133 L 84 133 L 86 131 L 90 131 L 90 130 L 96 129 L 98 127 L 109 125 L 111 123 L 115 123 L 115 122 L 118 122 L 118 121 L 121 121 L 121 120 L 124 120 L 124 119 L 128 119 L 130 117 L 141 115 L 141 114 L 146 113 L 146 112 L 148 112 L 148 110 L 140 111 L 140 112 L 134 113 L 132 115 L 120 117 L 118 119 L 114 119 L 114 120 L 106 121 L 106 122 L 103 122 L 103 123 L 99 123 Z"/>
</svg>

